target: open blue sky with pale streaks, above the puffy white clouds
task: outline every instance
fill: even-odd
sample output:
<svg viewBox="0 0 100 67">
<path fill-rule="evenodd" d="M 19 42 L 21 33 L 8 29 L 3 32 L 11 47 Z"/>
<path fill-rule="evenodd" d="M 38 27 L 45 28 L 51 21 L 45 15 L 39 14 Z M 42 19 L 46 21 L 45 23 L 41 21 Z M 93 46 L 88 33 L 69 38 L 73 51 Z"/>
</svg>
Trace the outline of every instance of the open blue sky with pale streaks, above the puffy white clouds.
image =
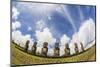
<svg viewBox="0 0 100 67">
<path fill-rule="evenodd" d="M 20 21 L 21 27 L 18 30 L 23 35 L 30 34 L 36 40 L 36 30 L 42 31 L 43 28 L 47 27 L 53 37 L 59 41 L 63 34 L 72 38 L 72 35 L 79 31 L 80 26 L 85 20 L 92 18 L 95 23 L 95 6 L 72 4 L 50 4 L 51 6 L 41 6 L 43 4 L 12 2 L 12 7 L 15 7 L 20 13 L 17 21 Z M 14 22 L 16 20 L 12 19 L 12 21 Z M 42 29 L 37 28 L 38 21 L 42 21 L 45 24 Z M 31 31 L 28 30 L 29 27 Z"/>
</svg>

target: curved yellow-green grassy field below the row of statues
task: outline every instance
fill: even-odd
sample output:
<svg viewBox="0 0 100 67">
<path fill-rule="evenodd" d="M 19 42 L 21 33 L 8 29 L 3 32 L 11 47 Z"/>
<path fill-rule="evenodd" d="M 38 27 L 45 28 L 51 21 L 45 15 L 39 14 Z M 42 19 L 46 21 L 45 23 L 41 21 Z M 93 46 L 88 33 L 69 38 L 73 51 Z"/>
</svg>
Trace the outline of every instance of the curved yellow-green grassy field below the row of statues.
<svg viewBox="0 0 100 67">
<path fill-rule="evenodd" d="M 83 61 L 95 61 L 95 45 L 90 49 L 78 55 L 63 57 L 63 58 L 45 58 L 34 56 L 25 53 L 18 48 L 14 43 L 11 44 L 11 63 L 12 65 L 29 65 L 29 64 L 50 64 L 50 63 L 69 63 L 69 62 L 83 62 Z"/>
</svg>

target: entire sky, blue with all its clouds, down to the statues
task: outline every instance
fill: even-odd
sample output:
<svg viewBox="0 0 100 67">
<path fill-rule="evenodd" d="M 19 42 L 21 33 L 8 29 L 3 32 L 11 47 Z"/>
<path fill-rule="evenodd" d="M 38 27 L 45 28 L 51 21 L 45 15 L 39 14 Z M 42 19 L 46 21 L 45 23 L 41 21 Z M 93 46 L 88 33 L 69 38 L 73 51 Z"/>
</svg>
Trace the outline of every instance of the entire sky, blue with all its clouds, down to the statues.
<svg viewBox="0 0 100 67">
<path fill-rule="evenodd" d="M 13 1 L 12 39 L 21 46 L 26 40 L 30 40 L 30 46 L 37 41 L 37 51 L 40 52 L 42 43 L 48 42 L 49 55 L 53 54 L 56 41 L 60 42 L 61 55 L 65 43 L 69 43 L 71 54 L 74 53 L 74 43 L 79 47 L 82 42 L 87 49 L 94 45 L 90 42 L 95 42 L 95 9 L 89 5 Z"/>
</svg>

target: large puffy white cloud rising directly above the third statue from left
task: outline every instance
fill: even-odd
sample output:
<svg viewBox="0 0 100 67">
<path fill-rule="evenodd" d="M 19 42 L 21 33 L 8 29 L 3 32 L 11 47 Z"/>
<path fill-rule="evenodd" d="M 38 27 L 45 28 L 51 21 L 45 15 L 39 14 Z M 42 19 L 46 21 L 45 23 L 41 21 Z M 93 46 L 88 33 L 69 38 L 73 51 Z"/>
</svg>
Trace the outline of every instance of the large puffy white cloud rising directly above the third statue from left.
<svg viewBox="0 0 100 67">
<path fill-rule="evenodd" d="M 39 45 L 43 44 L 43 42 L 48 42 L 50 45 L 53 45 L 56 42 L 49 28 L 44 28 L 43 31 L 36 30 L 35 36 Z"/>
</svg>

